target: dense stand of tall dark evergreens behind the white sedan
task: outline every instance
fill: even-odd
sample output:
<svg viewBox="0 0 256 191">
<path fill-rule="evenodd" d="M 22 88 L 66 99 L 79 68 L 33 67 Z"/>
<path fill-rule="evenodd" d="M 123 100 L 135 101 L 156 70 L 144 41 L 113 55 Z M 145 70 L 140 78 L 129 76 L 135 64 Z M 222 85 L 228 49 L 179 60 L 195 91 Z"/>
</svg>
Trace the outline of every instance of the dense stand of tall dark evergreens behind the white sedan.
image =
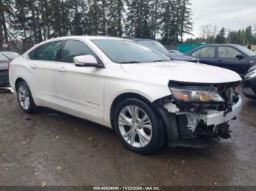
<svg viewBox="0 0 256 191">
<path fill-rule="evenodd" d="M 38 43 L 58 36 L 125 33 L 150 39 L 159 34 L 164 44 L 176 44 L 192 31 L 189 5 L 189 0 L 0 0 L 0 39 Z M 249 39 L 247 34 L 249 29 Z"/>
</svg>

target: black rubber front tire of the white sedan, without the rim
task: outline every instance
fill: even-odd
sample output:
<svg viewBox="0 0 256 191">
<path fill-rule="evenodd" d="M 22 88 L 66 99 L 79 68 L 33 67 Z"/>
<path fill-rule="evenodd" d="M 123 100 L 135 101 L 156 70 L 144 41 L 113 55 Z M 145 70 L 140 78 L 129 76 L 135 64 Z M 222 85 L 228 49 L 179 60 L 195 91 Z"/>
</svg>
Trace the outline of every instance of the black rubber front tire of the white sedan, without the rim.
<svg viewBox="0 0 256 191">
<path fill-rule="evenodd" d="M 138 106 L 140 109 L 143 109 L 146 114 L 148 114 L 149 119 L 151 120 L 151 125 L 152 125 L 152 137 L 151 141 L 146 145 L 146 147 L 132 147 L 127 141 L 124 140 L 123 136 L 121 135 L 121 132 L 118 127 L 118 116 L 121 112 L 122 109 L 124 109 L 125 106 Z M 151 109 L 150 106 L 148 106 L 145 102 L 140 101 L 139 99 L 136 98 L 128 98 L 127 100 L 121 102 L 116 108 L 116 112 L 114 115 L 114 128 L 116 131 L 116 134 L 118 136 L 118 139 L 121 140 L 121 142 L 129 149 L 131 149 L 134 152 L 138 152 L 140 154 L 150 154 L 152 152 L 157 151 L 158 146 L 159 146 L 159 135 L 161 134 L 159 132 L 160 128 L 158 128 L 159 122 L 157 120 L 156 114 L 154 114 L 153 110 Z"/>
</svg>

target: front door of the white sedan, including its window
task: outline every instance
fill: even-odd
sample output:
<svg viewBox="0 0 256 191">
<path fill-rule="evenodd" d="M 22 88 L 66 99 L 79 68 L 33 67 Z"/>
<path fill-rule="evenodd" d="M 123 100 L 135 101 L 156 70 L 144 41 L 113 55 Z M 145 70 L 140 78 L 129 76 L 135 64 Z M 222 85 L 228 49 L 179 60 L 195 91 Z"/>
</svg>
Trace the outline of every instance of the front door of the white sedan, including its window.
<svg viewBox="0 0 256 191">
<path fill-rule="evenodd" d="M 59 109 L 77 117 L 103 122 L 105 69 L 77 67 L 73 58 L 97 55 L 84 42 L 67 40 L 62 50 L 61 66 L 56 74 Z"/>
</svg>

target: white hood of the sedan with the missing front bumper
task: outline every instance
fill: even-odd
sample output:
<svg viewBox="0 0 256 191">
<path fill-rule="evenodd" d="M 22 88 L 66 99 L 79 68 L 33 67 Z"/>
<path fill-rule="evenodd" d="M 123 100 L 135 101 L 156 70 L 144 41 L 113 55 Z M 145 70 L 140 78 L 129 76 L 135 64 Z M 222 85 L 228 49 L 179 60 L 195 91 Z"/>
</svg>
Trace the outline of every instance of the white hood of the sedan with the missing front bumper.
<svg viewBox="0 0 256 191">
<path fill-rule="evenodd" d="M 136 77 L 151 82 L 177 82 L 217 84 L 241 81 L 234 71 L 201 63 L 170 61 L 159 63 L 121 64 L 121 68 Z"/>
</svg>

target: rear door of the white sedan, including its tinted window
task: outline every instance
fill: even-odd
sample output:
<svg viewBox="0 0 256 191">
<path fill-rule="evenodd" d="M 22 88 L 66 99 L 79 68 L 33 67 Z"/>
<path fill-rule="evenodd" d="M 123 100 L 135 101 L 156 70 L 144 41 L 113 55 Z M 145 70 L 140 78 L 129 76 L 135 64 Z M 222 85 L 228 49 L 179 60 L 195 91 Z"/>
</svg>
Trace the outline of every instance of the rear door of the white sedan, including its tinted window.
<svg viewBox="0 0 256 191">
<path fill-rule="evenodd" d="M 37 104 L 56 109 L 55 75 L 58 69 L 57 55 L 62 41 L 49 42 L 29 53 L 29 87 Z"/>
</svg>

